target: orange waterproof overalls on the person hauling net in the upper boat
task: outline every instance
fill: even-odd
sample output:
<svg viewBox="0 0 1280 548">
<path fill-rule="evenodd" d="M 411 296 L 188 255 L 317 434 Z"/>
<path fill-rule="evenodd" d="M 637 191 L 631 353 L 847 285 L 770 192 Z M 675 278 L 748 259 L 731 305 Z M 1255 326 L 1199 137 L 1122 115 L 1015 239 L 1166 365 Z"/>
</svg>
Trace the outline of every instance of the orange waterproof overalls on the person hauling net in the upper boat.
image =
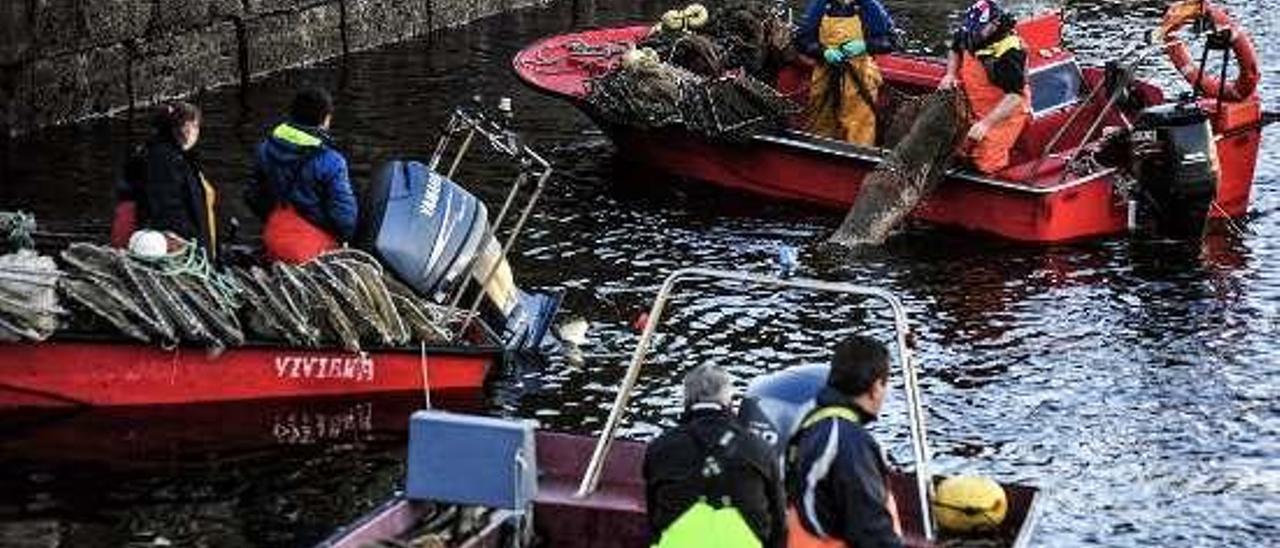
<svg viewBox="0 0 1280 548">
<path fill-rule="evenodd" d="M 960 59 L 960 86 L 969 97 L 969 109 L 973 113 L 973 122 L 978 122 L 996 110 L 996 105 L 1005 99 L 1005 90 L 991 82 L 986 67 L 978 56 L 1000 56 L 1010 49 L 1021 49 L 1023 42 L 1016 35 L 1010 35 L 991 46 L 978 50 L 978 55 L 965 51 Z M 1023 128 L 1030 120 L 1030 92 L 1023 87 L 1023 104 L 1016 113 L 996 124 L 987 132 L 987 136 L 973 143 L 969 149 L 969 159 L 974 168 L 982 173 L 996 173 L 1009 166 L 1009 151 L 1023 133 Z"/>
</svg>

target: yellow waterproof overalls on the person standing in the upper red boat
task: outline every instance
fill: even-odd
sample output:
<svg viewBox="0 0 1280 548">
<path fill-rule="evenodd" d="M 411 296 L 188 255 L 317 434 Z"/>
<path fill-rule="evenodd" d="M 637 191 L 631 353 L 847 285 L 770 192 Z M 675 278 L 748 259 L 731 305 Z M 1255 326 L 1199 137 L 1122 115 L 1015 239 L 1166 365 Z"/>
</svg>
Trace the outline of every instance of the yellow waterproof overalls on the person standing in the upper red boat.
<svg viewBox="0 0 1280 548">
<path fill-rule="evenodd" d="M 818 26 L 818 42 L 823 47 L 840 47 L 850 40 L 863 40 L 863 20 L 852 17 L 824 15 Z M 879 67 L 870 55 L 845 59 L 845 78 L 840 97 L 827 97 L 831 67 L 819 56 L 809 81 L 809 131 L 823 137 L 845 140 L 855 145 L 876 145 L 876 105 L 881 87 Z M 838 99 L 838 109 L 833 109 Z"/>
</svg>

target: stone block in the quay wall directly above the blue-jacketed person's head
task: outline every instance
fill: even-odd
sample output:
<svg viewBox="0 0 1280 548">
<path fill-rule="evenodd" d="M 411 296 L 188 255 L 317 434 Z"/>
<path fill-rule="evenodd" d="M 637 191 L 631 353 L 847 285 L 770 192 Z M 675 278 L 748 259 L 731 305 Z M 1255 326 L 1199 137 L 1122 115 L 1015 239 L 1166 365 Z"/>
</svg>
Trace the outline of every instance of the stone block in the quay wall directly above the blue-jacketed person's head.
<svg viewBox="0 0 1280 548">
<path fill-rule="evenodd" d="M 337 4 L 282 13 L 248 22 L 248 72 L 265 74 L 342 54 Z"/>
</svg>

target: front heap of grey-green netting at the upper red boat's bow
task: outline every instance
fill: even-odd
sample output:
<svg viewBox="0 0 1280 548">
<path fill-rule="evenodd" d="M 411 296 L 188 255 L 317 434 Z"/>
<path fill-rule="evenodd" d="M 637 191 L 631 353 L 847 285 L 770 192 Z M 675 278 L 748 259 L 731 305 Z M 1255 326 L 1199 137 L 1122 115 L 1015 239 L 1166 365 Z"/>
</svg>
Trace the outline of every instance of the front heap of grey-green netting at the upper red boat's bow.
<svg viewBox="0 0 1280 548">
<path fill-rule="evenodd" d="M 643 129 L 676 127 L 723 141 L 781 129 L 797 111 L 750 76 L 699 76 L 663 63 L 653 50 L 627 52 L 617 70 L 590 83 L 586 104 L 608 123 Z"/>
</svg>

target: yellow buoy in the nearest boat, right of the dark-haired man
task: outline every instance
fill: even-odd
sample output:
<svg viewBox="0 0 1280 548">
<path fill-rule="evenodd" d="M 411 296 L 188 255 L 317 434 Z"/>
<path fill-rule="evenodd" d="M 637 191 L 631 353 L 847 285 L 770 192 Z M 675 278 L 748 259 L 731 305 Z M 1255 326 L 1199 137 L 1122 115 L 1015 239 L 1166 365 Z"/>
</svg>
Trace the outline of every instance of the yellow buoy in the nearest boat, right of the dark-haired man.
<svg viewBox="0 0 1280 548">
<path fill-rule="evenodd" d="M 933 496 L 933 515 L 951 533 L 996 529 L 1007 511 L 1005 489 L 991 478 L 951 476 L 938 484 Z"/>
</svg>

